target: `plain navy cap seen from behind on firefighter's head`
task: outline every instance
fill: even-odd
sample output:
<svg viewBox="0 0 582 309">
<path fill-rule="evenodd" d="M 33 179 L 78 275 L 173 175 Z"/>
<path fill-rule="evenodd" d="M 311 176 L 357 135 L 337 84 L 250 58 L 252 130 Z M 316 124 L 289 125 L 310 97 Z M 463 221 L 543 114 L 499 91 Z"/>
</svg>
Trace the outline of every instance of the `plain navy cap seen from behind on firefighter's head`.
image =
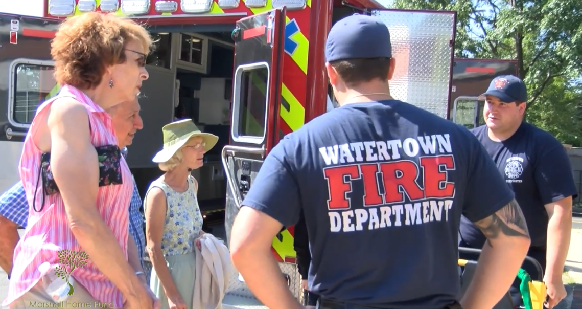
<svg viewBox="0 0 582 309">
<path fill-rule="evenodd" d="M 377 17 L 355 14 L 338 20 L 325 42 L 325 61 L 392 58 L 390 31 Z"/>
</svg>

